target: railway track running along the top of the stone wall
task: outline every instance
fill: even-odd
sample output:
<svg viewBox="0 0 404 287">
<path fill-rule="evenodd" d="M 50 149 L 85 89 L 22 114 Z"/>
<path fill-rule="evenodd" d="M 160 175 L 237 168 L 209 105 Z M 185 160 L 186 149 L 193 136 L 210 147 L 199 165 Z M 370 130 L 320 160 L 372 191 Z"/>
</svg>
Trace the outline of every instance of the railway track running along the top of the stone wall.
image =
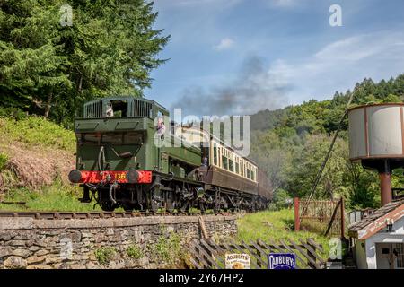
<svg viewBox="0 0 404 287">
<path fill-rule="evenodd" d="M 215 214 L 215 213 L 213 213 Z M 217 213 L 220 215 L 230 215 L 234 213 Z M 69 219 L 109 219 L 109 218 L 133 218 L 145 216 L 199 216 L 200 213 L 151 213 L 151 212 L 134 212 L 134 213 L 116 213 L 116 212 L 87 212 L 87 213 L 70 213 L 70 212 L 0 212 L 0 217 L 19 217 L 34 218 L 44 220 L 69 220 Z"/>
</svg>

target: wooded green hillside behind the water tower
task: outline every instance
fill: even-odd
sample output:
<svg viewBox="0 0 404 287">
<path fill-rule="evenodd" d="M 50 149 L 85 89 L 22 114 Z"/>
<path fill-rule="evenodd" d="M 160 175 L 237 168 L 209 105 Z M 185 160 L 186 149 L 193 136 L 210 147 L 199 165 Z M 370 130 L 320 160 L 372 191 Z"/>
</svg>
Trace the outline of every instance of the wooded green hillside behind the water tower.
<svg viewBox="0 0 404 287">
<path fill-rule="evenodd" d="M 402 102 L 404 74 L 380 83 L 364 79 L 356 83 L 353 91 L 336 92 L 332 100 L 310 100 L 285 109 L 260 111 L 251 117 L 251 158 L 267 170 L 278 204 L 291 196 L 308 196 L 351 95 L 352 106 Z M 347 157 L 346 118 L 315 197 L 345 196 L 350 207 L 377 206 L 377 173 L 352 164 Z M 404 186 L 402 173 L 403 170 L 395 170 L 393 187 Z"/>
</svg>

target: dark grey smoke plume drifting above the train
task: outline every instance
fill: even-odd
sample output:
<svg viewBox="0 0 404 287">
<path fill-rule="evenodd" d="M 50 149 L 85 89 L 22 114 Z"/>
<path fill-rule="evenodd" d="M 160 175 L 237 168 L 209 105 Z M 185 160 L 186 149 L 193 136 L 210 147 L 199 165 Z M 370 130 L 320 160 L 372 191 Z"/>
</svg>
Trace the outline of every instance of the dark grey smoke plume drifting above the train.
<svg viewBox="0 0 404 287">
<path fill-rule="evenodd" d="M 223 116 L 251 115 L 262 109 L 278 109 L 287 104 L 291 90 L 282 76 L 265 68 L 260 57 L 249 57 L 231 84 L 187 88 L 171 109 L 182 109 L 183 115 Z"/>
</svg>

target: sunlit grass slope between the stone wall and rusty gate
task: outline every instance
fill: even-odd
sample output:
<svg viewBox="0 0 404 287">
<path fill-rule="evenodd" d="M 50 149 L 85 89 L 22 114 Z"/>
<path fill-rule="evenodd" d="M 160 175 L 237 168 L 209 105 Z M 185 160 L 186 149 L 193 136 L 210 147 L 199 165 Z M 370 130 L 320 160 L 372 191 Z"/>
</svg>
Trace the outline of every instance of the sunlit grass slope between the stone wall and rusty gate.
<svg viewBox="0 0 404 287">
<path fill-rule="evenodd" d="M 323 257 L 329 254 L 329 238 L 320 234 L 298 231 L 294 232 L 294 210 L 265 211 L 260 213 L 248 213 L 238 219 L 238 241 L 249 242 L 250 240 L 262 239 L 263 241 L 279 239 L 292 239 L 299 243 L 299 239 L 312 238 L 321 244 L 324 249 Z"/>
</svg>

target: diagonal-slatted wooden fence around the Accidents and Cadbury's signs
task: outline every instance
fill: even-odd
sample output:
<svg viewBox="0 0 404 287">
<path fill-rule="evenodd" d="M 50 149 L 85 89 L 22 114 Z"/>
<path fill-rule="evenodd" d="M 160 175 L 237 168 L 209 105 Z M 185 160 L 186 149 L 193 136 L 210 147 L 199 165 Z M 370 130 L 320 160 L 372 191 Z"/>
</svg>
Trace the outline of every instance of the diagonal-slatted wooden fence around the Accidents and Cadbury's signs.
<svg viewBox="0 0 404 287">
<path fill-rule="evenodd" d="M 261 239 L 239 243 L 229 239 L 226 243 L 215 243 L 212 239 L 194 239 L 189 248 L 189 261 L 197 269 L 223 269 L 226 253 L 245 253 L 250 255 L 251 269 L 268 269 L 270 253 L 294 253 L 299 269 L 323 269 L 326 262 L 321 257 L 324 250 L 313 239 L 296 243 L 292 239 L 274 242 Z"/>
</svg>

